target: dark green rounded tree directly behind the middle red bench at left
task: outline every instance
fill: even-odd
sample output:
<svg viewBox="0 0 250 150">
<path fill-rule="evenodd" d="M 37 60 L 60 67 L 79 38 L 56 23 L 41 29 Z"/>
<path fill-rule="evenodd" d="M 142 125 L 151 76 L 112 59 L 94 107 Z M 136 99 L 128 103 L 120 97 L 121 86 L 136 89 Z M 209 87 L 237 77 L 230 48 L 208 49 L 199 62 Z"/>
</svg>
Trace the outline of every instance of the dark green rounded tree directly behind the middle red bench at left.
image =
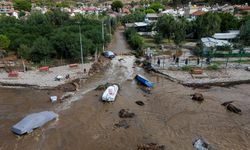
<svg viewBox="0 0 250 150">
<path fill-rule="evenodd" d="M 31 60 L 33 62 L 45 61 L 45 63 L 54 54 L 51 43 L 44 37 L 37 38 L 31 48 Z"/>
</svg>

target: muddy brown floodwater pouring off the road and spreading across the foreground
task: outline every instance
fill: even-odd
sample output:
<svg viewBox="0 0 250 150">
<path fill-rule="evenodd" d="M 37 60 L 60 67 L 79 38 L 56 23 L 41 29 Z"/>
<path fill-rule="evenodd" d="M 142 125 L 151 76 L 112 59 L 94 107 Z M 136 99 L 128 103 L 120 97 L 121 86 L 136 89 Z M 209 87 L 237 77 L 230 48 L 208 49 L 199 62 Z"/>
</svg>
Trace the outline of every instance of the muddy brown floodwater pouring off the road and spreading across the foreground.
<svg viewBox="0 0 250 150">
<path fill-rule="evenodd" d="M 51 104 L 49 96 L 61 94 L 56 90 L 0 89 L 0 150 L 135 150 L 137 145 L 151 142 L 165 145 L 166 150 L 193 150 L 192 142 L 198 137 L 218 150 L 249 149 L 249 84 L 193 89 L 145 73 L 133 67 L 133 61 L 133 56 L 118 56 L 105 73 L 88 79 L 69 102 Z M 137 73 L 155 83 L 151 94 L 132 80 Z M 101 102 L 103 91 L 93 90 L 106 82 L 121 85 L 113 103 Z M 194 92 L 203 93 L 204 102 L 192 101 Z M 221 106 L 230 100 L 241 108 L 242 115 Z M 120 118 L 121 109 L 129 109 L 135 116 Z M 43 110 L 55 111 L 59 119 L 21 137 L 10 131 L 25 115 Z M 115 125 L 122 120 L 127 128 Z"/>
</svg>

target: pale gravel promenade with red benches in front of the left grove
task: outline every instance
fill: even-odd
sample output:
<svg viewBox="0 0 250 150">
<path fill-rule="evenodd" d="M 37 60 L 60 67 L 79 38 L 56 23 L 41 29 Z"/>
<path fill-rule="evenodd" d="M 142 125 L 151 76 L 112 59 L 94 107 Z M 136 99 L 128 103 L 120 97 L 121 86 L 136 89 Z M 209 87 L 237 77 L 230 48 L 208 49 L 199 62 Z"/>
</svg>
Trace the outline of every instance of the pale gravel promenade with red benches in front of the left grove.
<svg viewBox="0 0 250 150">
<path fill-rule="evenodd" d="M 78 65 L 76 68 L 70 68 L 69 66 L 59 66 L 49 68 L 48 72 L 40 72 L 39 70 L 18 72 L 18 77 L 8 77 L 8 73 L 0 73 L 0 85 L 30 86 L 39 89 L 53 88 L 77 78 L 87 77 L 91 65 L 92 63 L 87 63 Z M 86 69 L 86 73 L 83 72 L 83 69 Z M 60 81 L 55 81 L 55 77 L 58 75 L 62 76 L 63 79 Z M 66 75 L 69 75 L 70 78 L 65 79 Z"/>
</svg>

